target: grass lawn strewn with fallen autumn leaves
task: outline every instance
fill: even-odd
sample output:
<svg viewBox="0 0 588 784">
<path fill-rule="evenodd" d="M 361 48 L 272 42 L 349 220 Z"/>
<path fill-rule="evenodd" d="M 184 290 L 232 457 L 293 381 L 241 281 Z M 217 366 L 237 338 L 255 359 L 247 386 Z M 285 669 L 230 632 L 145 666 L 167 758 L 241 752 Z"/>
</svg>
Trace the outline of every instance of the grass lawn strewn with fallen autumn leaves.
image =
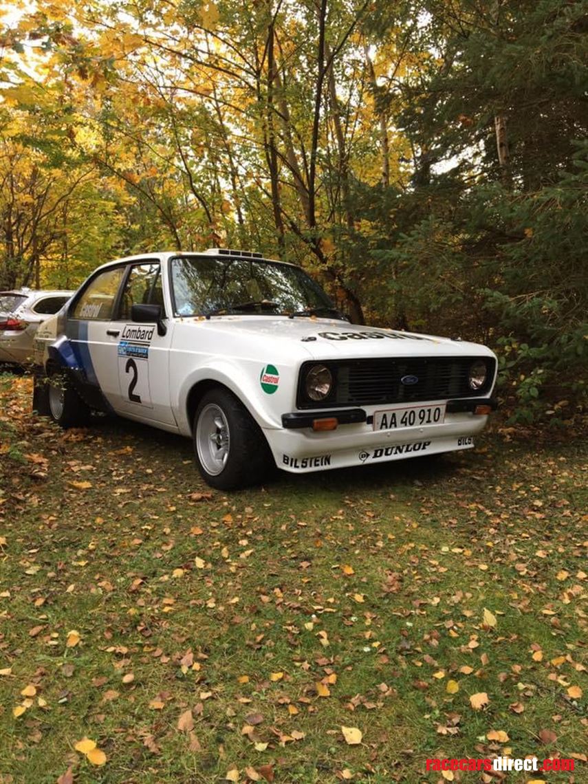
<svg viewBox="0 0 588 784">
<path fill-rule="evenodd" d="M 30 394 L 0 379 L 2 784 L 443 782 L 427 757 L 505 753 L 576 755 L 509 782 L 588 781 L 579 441 L 223 495 L 189 441 L 64 434 Z"/>
</svg>

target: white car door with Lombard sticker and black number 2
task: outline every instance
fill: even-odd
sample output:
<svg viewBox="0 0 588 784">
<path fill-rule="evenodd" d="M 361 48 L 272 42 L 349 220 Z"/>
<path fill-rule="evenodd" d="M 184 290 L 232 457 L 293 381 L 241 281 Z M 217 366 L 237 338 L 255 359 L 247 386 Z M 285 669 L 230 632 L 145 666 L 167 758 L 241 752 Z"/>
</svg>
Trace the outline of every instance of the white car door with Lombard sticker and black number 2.
<svg viewBox="0 0 588 784">
<path fill-rule="evenodd" d="M 159 305 L 165 318 L 161 264 L 132 263 L 125 275 L 111 332 L 117 335 L 118 397 L 114 409 L 133 419 L 175 426 L 169 397 L 172 329 L 132 321 L 132 306 Z M 162 334 L 165 332 L 165 334 Z"/>
</svg>

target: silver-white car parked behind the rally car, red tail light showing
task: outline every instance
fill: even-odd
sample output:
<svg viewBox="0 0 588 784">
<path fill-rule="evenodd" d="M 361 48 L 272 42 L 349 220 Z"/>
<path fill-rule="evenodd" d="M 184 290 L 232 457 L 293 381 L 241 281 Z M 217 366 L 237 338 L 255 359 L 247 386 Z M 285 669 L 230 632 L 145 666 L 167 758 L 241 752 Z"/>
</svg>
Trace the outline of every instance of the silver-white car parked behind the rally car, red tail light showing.
<svg viewBox="0 0 588 784">
<path fill-rule="evenodd" d="M 38 325 L 64 307 L 74 292 L 0 291 L 0 363 L 27 365 Z"/>
</svg>

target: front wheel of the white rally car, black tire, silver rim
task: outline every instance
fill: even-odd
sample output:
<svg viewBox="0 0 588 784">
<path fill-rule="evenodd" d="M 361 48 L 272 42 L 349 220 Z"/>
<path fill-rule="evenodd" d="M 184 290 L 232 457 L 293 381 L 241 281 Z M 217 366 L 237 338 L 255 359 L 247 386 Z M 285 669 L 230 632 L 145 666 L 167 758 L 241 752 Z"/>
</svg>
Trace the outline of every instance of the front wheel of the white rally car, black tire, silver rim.
<svg viewBox="0 0 588 784">
<path fill-rule="evenodd" d="M 216 413 L 220 413 L 218 421 L 227 426 L 226 458 L 220 456 L 225 439 L 223 426 L 215 425 Z M 274 472 L 274 459 L 260 426 L 241 401 L 223 387 L 215 387 L 202 397 L 194 415 L 192 436 L 201 477 L 217 490 L 259 485 Z"/>
</svg>

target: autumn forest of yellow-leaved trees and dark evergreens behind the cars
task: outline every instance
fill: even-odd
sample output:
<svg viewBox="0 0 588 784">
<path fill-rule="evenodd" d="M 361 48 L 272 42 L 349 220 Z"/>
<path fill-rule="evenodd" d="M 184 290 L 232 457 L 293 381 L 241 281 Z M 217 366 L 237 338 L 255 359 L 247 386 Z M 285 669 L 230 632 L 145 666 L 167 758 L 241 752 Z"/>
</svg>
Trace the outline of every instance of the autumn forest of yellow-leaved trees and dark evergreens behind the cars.
<svg viewBox="0 0 588 784">
<path fill-rule="evenodd" d="M 226 246 L 354 321 L 488 343 L 511 420 L 585 399 L 586 6 L 37 0 L 0 23 L 0 289 Z"/>
</svg>

